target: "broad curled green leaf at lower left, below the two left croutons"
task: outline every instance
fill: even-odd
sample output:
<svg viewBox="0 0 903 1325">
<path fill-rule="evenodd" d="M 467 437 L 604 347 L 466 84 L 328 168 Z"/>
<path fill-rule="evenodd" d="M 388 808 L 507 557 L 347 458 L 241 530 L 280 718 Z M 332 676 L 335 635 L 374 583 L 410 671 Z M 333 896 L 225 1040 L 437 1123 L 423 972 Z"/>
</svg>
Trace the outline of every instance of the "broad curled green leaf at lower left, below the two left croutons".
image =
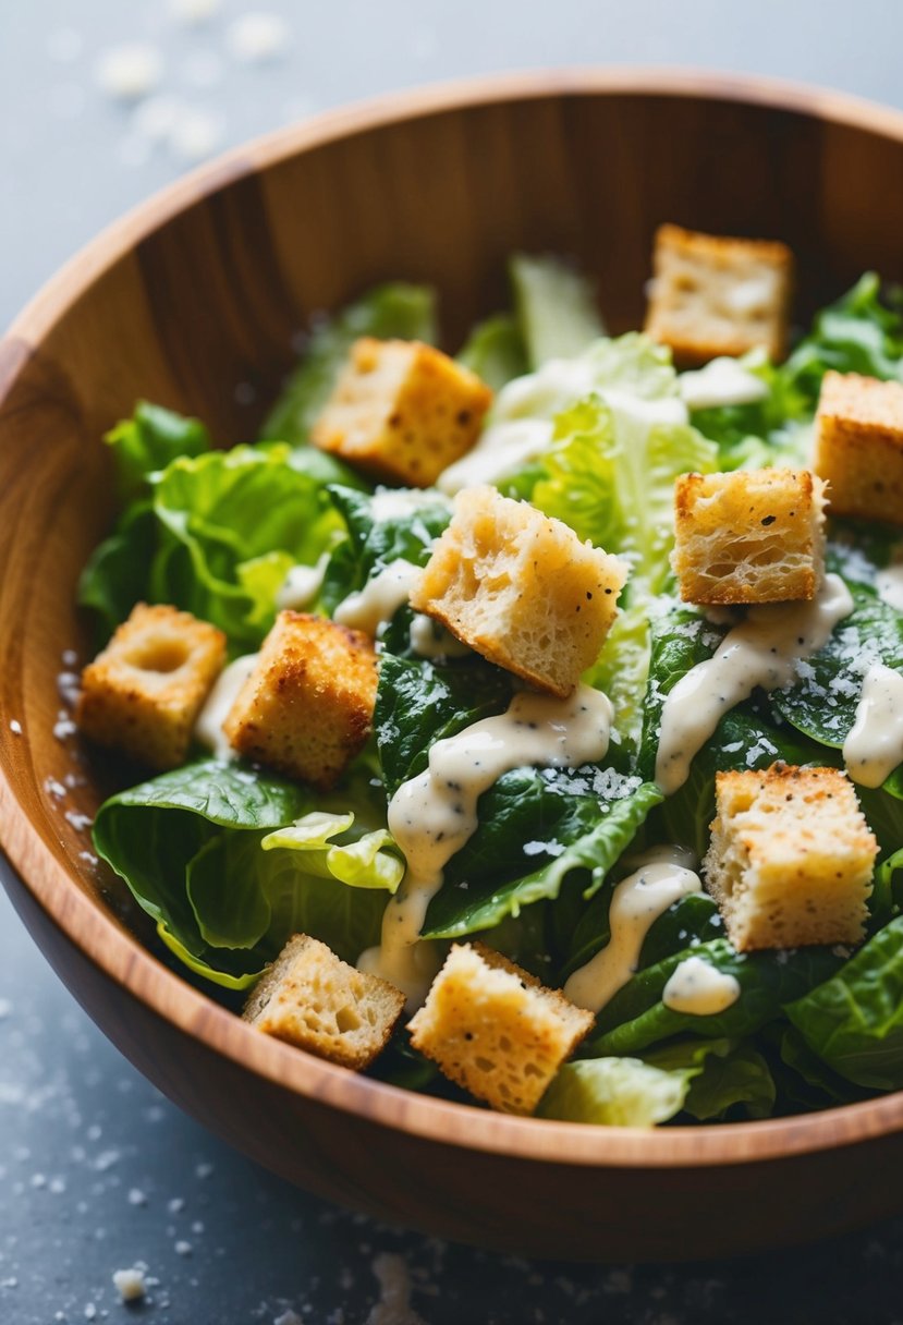
<svg viewBox="0 0 903 1325">
<path fill-rule="evenodd" d="M 105 802 L 94 845 L 181 961 L 213 983 L 245 988 L 295 931 L 352 962 L 379 938 L 400 861 L 384 849 L 384 829 L 367 831 L 380 820 L 381 798 L 365 778 L 336 792 L 339 802 L 350 811 L 322 822 L 319 810 L 318 832 L 302 843 L 314 808 L 307 788 L 203 761 Z M 351 829 L 355 812 L 363 832 Z"/>
</svg>

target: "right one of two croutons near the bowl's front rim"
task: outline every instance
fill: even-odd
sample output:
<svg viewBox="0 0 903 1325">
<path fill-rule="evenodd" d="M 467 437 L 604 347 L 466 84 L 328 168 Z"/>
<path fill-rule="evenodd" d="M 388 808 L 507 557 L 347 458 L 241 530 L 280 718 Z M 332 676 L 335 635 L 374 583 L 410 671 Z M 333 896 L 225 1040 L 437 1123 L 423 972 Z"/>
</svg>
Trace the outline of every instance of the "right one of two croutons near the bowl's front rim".
<svg viewBox="0 0 903 1325">
<path fill-rule="evenodd" d="M 482 943 L 454 943 L 410 1043 L 452 1081 L 502 1113 L 532 1113 L 593 1024 L 527 971 Z"/>
</svg>

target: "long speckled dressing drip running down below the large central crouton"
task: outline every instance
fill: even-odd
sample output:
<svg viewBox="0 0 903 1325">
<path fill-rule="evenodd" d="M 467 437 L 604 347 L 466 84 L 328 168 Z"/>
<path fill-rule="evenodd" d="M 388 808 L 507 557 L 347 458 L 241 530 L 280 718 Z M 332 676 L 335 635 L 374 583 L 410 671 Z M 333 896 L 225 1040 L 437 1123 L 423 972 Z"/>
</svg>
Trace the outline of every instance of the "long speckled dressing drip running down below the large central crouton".
<svg viewBox="0 0 903 1325">
<path fill-rule="evenodd" d="M 432 951 L 418 942 L 426 908 L 449 860 L 477 828 L 482 794 L 511 768 L 576 768 L 602 759 L 610 727 L 608 697 L 579 685 L 567 700 L 522 692 L 506 713 L 437 741 L 428 768 L 389 803 L 389 832 L 408 871 L 385 909 L 383 941 L 361 954 L 360 970 L 404 990 L 409 1007 L 422 1002 L 434 974 Z"/>
</svg>

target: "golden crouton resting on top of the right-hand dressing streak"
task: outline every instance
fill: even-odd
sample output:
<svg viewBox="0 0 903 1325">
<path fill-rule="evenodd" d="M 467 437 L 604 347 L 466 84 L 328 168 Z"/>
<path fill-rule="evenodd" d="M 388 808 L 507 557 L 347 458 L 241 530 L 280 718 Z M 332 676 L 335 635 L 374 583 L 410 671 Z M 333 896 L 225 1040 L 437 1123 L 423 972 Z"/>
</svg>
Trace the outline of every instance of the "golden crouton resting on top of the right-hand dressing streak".
<svg viewBox="0 0 903 1325">
<path fill-rule="evenodd" d="M 671 566 L 685 603 L 813 599 L 824 575 L 825 485 L 808 469 L 681 474 Z"/>
</svg>

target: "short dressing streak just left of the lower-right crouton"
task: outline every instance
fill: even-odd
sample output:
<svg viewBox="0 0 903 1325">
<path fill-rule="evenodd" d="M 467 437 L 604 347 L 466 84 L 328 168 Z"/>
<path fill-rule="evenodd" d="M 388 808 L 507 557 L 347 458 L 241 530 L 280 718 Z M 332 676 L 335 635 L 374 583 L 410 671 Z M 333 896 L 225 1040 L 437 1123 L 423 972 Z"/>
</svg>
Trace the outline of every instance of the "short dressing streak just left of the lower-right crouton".
<svg viewBox="0 0 903 1325">
<path fill-rule="evenodd" d="M 622 878 L 612 893 L 609 941 L 601 953 L 573 973 L 564 986 L 564 996 L 591 1012 L 604 1008 L 637 970 L 643 939 L 654 921 L 674 902 L 698 892 L 702 892 L 699 874 L 667 856 L 653 857 Z"/>
</svg>

